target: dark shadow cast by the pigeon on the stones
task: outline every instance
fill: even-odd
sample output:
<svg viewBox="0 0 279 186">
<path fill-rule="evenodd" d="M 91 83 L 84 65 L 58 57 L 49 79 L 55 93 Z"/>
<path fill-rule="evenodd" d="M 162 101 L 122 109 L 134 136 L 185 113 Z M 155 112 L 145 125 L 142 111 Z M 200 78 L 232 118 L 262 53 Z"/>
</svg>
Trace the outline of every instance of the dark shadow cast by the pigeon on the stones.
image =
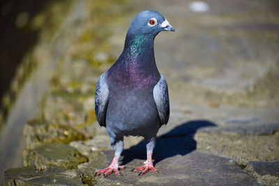
<svg viewBox="0 0 279 186">
<path fill-rule="evenodd" d="M 195 132 L 202 127 L 216 127 L 211 121 L 189 121 L 182 123 L 173 130 L 157 138 L 156 147 L 153 150 L 153 165 L 175 155 L 186 155 L 197 148 L 197 142 L 193 139 Z M 122 164 L 128 164 L 135 159 L 146 160 L 146 141 L 123 150 Z"/>
</svg>

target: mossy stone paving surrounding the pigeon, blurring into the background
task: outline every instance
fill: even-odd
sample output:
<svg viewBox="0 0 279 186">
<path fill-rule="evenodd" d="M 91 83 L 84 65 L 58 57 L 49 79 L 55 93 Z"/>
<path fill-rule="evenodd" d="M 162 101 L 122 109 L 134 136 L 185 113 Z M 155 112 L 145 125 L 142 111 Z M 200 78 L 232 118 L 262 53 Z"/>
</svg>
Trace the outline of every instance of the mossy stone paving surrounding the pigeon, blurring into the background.
<svg viewBox="0 0 279 186">
<path fill-rule="evenodd" d="M 42 29 L 12 84 L 21 91 L 7 107 L 0 141 L 1 171 L 22 167 L 6 171 L 4 183 L 278 183 L 278 3 L 204 4 L 201 11 L 179 0 L 55 1 L 38 13 L 32 22 Z M 154 47 L 171 106 L 154 153 L 159 173 L 130 171 L 144 162 L 145 147 L 142 138 L 128 138 L 123 176 L 95 177 L 113 153 L 95 118 L 96 82 L 122 52 L 133 17 L 146 9 L 176 29 L 160 33 Z"/>
</svg>

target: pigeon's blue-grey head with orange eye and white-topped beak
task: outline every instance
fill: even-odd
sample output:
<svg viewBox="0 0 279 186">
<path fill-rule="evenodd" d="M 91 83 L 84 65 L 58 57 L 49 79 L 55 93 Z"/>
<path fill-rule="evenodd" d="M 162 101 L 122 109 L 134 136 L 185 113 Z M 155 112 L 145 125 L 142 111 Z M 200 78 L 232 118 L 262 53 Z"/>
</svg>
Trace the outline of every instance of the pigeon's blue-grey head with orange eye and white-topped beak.
<svg viewBox="0 0 279 186">
<path fill-rule="evenodd" d="M 174 31 L 174 27 L 157 11 L 146 10 L 135 17 L 128 33 L 156 36 L 160 31 Z"/>
</svg>

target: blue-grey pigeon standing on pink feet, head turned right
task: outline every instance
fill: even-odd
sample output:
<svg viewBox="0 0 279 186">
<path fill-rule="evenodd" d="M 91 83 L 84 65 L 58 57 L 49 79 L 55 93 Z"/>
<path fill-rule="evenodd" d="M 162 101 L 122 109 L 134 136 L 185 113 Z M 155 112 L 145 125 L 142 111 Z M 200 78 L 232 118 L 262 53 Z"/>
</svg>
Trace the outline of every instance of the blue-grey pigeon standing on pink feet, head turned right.
<svg viewBox="0 0 279 186">
<path fill-rule="evenodd" d="M 110 166 L 96 172 L 104 176 L 115 172 L 121 176 L 119 157 L 124 136 L 146 139 L 147 160 L 134 169 L 140 175 L 153 166 L 152 153 L 156 134 L 169 120 L 167 82 L 155 63 L 153 43 L 160 31 L 174 31 L 174 27 L 155 10 L 139 13 L 128 29 L 123 52 L 103 73 L 96 84 L 95 113 L 100 126 L 106 127 L 114 158 Z"/>
</svg>

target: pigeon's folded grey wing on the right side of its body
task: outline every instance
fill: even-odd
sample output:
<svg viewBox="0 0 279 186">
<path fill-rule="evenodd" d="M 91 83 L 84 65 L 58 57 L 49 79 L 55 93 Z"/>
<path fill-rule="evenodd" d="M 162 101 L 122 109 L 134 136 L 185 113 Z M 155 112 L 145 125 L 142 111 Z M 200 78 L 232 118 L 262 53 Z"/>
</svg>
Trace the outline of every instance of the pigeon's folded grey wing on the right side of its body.
<svg viewBox="0 0 279 186">
<path fill-rule="evenodd" d="M 160 124 L 167 124 L 169 121 L 169 93 L 167 91 L 167 82 L 163 75 L 159 82 L 153 88 L 153 98 L 158 109 Z"/>
</svg>

